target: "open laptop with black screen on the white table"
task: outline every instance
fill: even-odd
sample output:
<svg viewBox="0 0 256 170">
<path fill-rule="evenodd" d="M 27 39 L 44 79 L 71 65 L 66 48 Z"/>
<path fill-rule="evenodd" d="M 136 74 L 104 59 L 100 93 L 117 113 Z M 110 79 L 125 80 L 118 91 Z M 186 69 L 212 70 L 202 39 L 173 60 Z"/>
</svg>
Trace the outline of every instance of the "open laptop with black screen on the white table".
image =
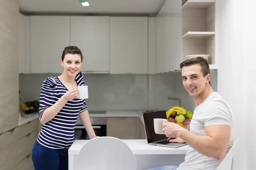
<svg viewBox="0 0 256 170">
<path fill-rule="evenodd" d="M 168 137 L 165 134 L 156 134 L 154 132 L 154 118 L 167 119 L 165 110 L 146 112 L 142 115 L 148 144 L 175 148 L 187 145 L 186 143 L 168 142 Z"/>
</svg>

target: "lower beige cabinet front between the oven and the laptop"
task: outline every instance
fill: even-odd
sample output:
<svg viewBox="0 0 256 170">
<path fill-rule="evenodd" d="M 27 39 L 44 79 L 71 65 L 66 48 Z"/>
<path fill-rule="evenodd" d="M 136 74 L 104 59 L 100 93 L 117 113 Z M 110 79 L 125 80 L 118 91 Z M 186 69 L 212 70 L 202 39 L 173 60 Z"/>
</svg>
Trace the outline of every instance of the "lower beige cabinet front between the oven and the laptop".
<svg viewBox="0 0 256 170">
<path fill-rule="evenodd" d="M 137 139 L 137 117 L 108 117 L 107 136 Z"/>
</svg>

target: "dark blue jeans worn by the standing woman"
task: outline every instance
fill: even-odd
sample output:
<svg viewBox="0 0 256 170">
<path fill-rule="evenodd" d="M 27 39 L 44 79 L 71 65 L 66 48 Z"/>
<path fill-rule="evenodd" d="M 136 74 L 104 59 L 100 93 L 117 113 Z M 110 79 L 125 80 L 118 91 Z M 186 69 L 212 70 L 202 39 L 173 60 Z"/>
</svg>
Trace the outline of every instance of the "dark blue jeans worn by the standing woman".
<svg viewBox="0 0 256 170">
<path fill-rule="evenodd" d="M 68 170 L 68 149 L 51 149 L 36 141 L 32 161 L 35 170 Z"/>
</svg>

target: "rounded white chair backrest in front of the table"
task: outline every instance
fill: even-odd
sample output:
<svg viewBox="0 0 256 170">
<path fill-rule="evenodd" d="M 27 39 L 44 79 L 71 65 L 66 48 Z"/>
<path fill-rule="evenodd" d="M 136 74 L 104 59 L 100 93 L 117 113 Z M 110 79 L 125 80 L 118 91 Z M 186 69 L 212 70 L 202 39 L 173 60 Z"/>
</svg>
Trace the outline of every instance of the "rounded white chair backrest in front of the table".
<svg viewBox="0 0 256 170">
<path fill-rule="evenodd" d="M 76 157 L 75 170 L 137 170 L 137 162 L 125 142 L 102 136 L 84 144 Z"/>
</svg>

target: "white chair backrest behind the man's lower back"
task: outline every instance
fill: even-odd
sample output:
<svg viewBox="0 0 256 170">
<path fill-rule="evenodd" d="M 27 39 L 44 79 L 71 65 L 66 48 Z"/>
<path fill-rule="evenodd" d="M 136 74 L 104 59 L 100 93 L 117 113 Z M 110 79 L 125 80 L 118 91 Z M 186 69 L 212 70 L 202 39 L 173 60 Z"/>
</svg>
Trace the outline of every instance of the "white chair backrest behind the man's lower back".
<svg viewBox="0 0 256 170">
<path fill-rule="evenodd" d="M 238 138 L 236 140 L 236 142 L 233 144 L 233 146 L 230 148 L 230 150 L 224 156 L 224 158 L 222 159 L 221 163 L 219 164 L 217 170 L 231 170 L 233 156 L 234 156 L 239 139 L 240 138 Z"/>
</svg>

